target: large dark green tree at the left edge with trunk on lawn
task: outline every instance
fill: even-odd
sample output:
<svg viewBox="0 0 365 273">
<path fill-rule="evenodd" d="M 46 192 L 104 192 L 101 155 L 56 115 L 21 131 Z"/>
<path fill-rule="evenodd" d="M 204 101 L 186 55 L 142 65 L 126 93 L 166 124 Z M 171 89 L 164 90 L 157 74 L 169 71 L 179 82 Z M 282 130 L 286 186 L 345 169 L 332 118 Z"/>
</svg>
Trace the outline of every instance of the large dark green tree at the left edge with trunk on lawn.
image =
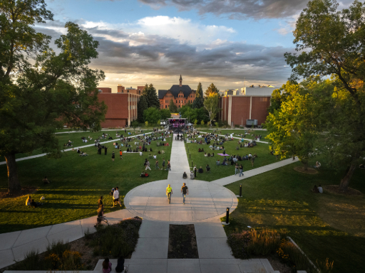
<svg viewBox="0 0 365 273">
<path fill-rule="evenodd" d="M 32 27 L 46 20 L 53 14 L 44 0 L 0 3 L 0 154 L 6 159 L 9 194 L 21 190 L 17 153 L 41 149 L 59 157 L 56 128 L 98 130 L 106 114 L 96 92 L 104 73 L 88 68 L 98 58 L 98 41 L 68 22 L 66 34 L 55 41 L 56 54 L 48 46 L 51 36 Z"/>
</svg>

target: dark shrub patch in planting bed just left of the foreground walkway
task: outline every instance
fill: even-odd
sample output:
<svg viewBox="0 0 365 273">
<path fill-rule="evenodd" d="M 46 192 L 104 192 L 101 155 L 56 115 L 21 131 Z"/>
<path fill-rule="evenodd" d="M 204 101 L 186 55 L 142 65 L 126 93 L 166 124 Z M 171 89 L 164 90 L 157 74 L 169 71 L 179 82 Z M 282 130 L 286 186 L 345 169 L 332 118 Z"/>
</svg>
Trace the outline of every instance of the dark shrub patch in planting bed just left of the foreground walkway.
<svg viewBox="0 0 365 273">
<path fill-rule="evenodd" d="M 115 225 L 101 225 L 89 243 L 99 255 L 118 258 L 128 257 L 137 245 L 142 219 L 129 218 Z"/>
</svg>

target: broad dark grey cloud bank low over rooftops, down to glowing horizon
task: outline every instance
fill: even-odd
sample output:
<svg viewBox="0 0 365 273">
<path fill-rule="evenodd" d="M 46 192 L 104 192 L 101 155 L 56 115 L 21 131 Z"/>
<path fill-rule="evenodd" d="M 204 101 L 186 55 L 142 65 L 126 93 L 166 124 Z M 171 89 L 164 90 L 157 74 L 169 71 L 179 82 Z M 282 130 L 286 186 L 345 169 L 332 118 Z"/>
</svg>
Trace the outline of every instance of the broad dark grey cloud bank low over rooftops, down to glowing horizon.
<svg viewBox="0 0 365 273">
<path fill-rule="evenodd" d="M 150 19 L 143 20 L 143 23 L 138 22 L 144 26 L 143 24 L 148 24 L 148 20 Z M 174 20 L 176 19 L 163 18 L 154 23 L 158 27 L 165 21 L 174 24 Z M 187 20 L 178 21 L 187 26 L 191 23 Z M 185 80 L 192 81 L 185 81 L 192 88 L 201 81 L 207 84 L 215 82 L 219 88 L 225 89 L 242 87 L 244 77 L 246 84 L 281 85 L 291 73 L 290 68 L 284 68 L 284 53 L 294 52 L 294 48 L 232 42 L 220 38 L 212 40 L 214 36 L 202 41 L 186 41 L 181 37 L 168 37 L 168 31 L 156 35 L 153 33 L 155 26 L 150 31 L 143 28 L 142 32 L 106 23 L 80 23 L 100 43 L 99 57 L 90 66 L 106 73 L 108 80 L 101 86 L 115 87 L 125 82 L 130 85 L 153 82 L 158 89 L 164 89 L 170 87 L 170 82 L 176 84 L 178 79 L 175 77 L 182 74 Z M 57 33 L 60 35 L 60 25 L 47 25 L 46 28 L 37 26 L 37 31 L 53 36 Z M 200 27 L 210 26 L 197 26 Z M 180 26 L 176 25 L 176 28 Z"/>
</svg>

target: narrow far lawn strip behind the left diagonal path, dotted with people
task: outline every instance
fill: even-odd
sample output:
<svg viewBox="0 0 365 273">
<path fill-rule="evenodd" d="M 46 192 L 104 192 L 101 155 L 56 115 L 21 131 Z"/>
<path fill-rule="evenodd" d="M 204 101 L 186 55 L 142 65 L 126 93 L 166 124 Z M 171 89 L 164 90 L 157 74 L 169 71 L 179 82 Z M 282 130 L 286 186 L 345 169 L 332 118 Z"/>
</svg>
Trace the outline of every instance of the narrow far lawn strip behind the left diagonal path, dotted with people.
<svg viewBox="0 0 365 273">
<path fill-rule="evenodd" d="M 83 146 L 83 145 L 88 145 L 88 144 L 93 144 L 94 140 L 98 137 L 101 137 L 101 135 L 104 133 L 108 134 L 108 137 L 113 137 L 113 139 L 115 139 L 115 132 L 118 131 L 120 132 L 120 134 L 123 134 L 123 136 L 125 135 L 125 132 L 121 131 L 121 130 L 115 130 L 115 131 L 101 131 L 101 132 L 79 132 L 79 133 L 68 133 L 68 132 L 64 132 L 64 134 L 56 134 L 56 137 L 58 139 L 58 144 L 61 146 L 61 149 L 69 149 L 71 147 L 68 147 L 68 146 L 63 146 L 63 144 L 67 143 L 68 140 L 71 140 L 73 141 L 73 148 L 77 149 L 78 147 L 80 146 Z M 128 137 L 131 137 L 131 136 L 134 136 L 136 134 L 140 134 L 140 131 L 127 131 L 127 133 L 130 132 L 130 134 L 128 134 Z M 150 130 L 147 131 L 147 130 L 143 130 L 144 133 L 148 133 L 148 132 L 151 132 Z M 91 137 L 93 140 L 90 141 L 90 142 L 83 142 L 81 137 Z M 108 138 L 106 139 L 101 139 L 101 143 L 103 141 L 108 141 Z M 117 140 L 118 141 L 118 140 Z M 118 143 L 120 143 L 120 141 L 118 141 Z M 110 143 L 110 144 L 107 144 L 108 147 L 112 147 L 113 146 L 113 142 Z M 41 149 L 38 149 L 38 150 L 35 150 L 33 151 L 31 154 L 16 154 L 16 159 L 21 159 L 23 157 L 26 157 L 26 156 L 34 156 L 36 154 L 43 154 L 43 152 L 41 151 Z M 0 156 L 0 161 L 5 161 L 5 158 L 4 156 Z"/>
</svg>

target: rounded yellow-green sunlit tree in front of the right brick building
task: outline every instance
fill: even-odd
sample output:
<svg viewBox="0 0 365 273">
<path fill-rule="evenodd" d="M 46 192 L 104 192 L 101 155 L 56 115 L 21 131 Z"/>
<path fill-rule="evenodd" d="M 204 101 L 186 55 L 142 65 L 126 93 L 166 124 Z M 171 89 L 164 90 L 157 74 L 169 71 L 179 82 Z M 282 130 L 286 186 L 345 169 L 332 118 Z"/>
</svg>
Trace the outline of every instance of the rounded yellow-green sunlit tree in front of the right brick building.
<svg viewBox="0 0 365 273">
<path fill-rule="evenodd" d="M 292 96 L 292 100 L 282 102 L 266 119 L 272 148 L 282 159 L 298 156 L 308 170 L 308 160 L 316 155 L 317 127 L 319 122 L 314 111 L 315 99 L 312 94 Z"/>
</svg>

